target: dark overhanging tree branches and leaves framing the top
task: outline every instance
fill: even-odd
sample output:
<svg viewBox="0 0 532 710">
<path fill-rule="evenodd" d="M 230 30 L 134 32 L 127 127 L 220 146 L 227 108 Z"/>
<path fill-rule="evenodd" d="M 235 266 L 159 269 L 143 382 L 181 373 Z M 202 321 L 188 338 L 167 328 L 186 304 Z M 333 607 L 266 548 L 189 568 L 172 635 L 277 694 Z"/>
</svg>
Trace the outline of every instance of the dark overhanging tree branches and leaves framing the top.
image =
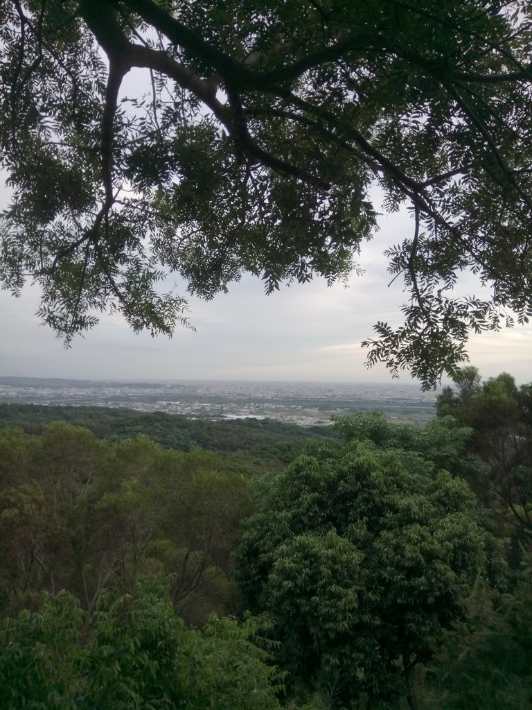
<svg viewBox="0 0 532 710">
<path fill-rule="evenodd" d="M 0 278 L 69 342 L 98 310 L 188 324 L 211 298 L 358 270 L 384 210 L 404 325 L 368 361 L 426 386 L 471 330 L 532 312 L 532 9 L 487 0 L 9 0 L 0 8 Z M 123 87 L 142 70 L 141 95 Z M 137 74 L 135 74 L 135 77 Z M 474 273 L 486 296 L 455 289 Z"/>
</svg>

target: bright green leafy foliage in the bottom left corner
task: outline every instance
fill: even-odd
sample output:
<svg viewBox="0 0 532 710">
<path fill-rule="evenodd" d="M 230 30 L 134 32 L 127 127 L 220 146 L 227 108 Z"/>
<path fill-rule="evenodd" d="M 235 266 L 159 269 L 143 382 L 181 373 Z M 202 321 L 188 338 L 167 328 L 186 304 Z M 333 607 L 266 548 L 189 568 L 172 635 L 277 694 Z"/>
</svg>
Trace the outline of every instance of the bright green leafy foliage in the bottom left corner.
<svg viewBox="0 0 532 710">
<path fill-rule="evenodd" d="M 265 618 L 211 617 L 202 630 L 175 616 L 165 585 L 108 590 L 87 613 L 62 592 L 0 629 L 0 700 L 9 710 L 275 710 L 282 674 L 261 648 Z"/>
</svg>

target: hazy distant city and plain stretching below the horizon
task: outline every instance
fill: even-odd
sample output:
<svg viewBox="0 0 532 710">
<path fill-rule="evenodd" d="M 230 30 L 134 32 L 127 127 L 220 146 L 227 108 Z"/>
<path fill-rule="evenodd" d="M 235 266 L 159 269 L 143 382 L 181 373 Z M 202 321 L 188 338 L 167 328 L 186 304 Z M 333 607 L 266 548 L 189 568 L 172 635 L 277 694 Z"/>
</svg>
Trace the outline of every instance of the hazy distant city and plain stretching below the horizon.
<svg viewBox="0 0 532 710">
<path fill-rule="evenodd" d="M 225 380 L 135 383 L 0 376 L 0 402 L 52 408 L 65 405 L 126 408 L 194 419 L 253 417 L 299 425 L 325 425 L 334 415 L 380 411 L 392 421 L 423 425 L 435 415 L 436 393 L 421 392 L 412 383 L 402 386 Z M 5 409 L 2 414 L 6 415 Z M 71 415 L 72 412 L 65 411 L 65 417 Z"/>
</svg>

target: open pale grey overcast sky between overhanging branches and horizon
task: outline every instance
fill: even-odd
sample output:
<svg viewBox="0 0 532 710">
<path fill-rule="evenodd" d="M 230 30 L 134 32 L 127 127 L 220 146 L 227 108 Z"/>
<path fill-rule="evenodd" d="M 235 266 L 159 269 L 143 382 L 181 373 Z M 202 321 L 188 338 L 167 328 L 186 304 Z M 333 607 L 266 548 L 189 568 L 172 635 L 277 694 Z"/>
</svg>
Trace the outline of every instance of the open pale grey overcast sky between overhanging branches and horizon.
<svg viewBox="0 0 532 710">
<path fill-rule="evenodd" d="M 7 195 L 0 195 L 4 205 Z M 365 368 L 360 342 L 372 335 L 377 320 L 399 323 L 402 284 L 388 287 L 382 251 L 410 231 L 406 214 L 382 219 L 381 231 L 360 257 L 366 273 L 353 277 L 348 288 L 315 280 L 265 296 L 260 280 L 244 278 L 214 301 L 191 299 L 196 332 L 178 329 L 172 339 L 135 335 L 119 315 L 104 315 L 85 339 L 65 350 L 35 317 L 38 290 L 26 288 L 18 299 L 0 292 L 0 376 L 389 381 L 384 367 Z M 184 294 L 180 286 L 177 293 Z M 518 382 L 532 381 L 531 353 L 531 327 L 470 341 L 471 364 L 484 377 L 508 371 Z M 401 381 L 409 381 L 408 373 Z"/>
</svg>

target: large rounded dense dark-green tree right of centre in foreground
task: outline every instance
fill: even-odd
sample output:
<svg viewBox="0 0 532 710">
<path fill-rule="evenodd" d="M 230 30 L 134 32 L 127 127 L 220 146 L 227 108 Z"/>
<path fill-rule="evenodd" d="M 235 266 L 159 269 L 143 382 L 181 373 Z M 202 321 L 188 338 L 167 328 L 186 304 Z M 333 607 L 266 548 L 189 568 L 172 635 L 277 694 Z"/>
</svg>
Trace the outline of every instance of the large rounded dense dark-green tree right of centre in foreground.
<svg viewBox="0 0 532 710">
<path fill-rule="evenodd" d="M 262 491 L 240 585 L 275 619 L 279 660 L 331 706 L 411 692 L 414 667 L 460 617 L 487 534 L 464 481 L 417 452 L 316 444 Z"/>
</svg>

